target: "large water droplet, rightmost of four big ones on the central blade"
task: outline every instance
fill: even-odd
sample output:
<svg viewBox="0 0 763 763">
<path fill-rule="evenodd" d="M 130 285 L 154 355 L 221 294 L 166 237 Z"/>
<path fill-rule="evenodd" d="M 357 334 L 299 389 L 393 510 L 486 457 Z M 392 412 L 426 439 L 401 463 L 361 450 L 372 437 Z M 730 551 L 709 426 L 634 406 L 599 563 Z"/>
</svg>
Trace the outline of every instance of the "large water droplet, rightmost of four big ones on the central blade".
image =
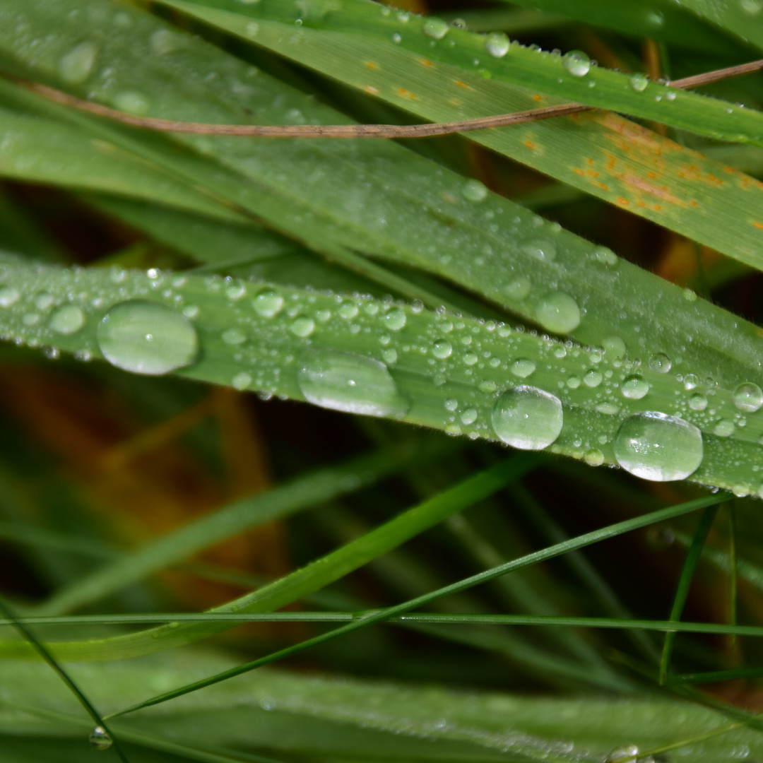
<svg viewBox="0 0 763 763">
<path fill-rule="evenodd" d="M 674 416 L 642 411 L 623 421 L 614 452 L 617 463 L 636 477 L 655 482 L 685 479 L 702 462 L 702 433 Z"/>
</svg>

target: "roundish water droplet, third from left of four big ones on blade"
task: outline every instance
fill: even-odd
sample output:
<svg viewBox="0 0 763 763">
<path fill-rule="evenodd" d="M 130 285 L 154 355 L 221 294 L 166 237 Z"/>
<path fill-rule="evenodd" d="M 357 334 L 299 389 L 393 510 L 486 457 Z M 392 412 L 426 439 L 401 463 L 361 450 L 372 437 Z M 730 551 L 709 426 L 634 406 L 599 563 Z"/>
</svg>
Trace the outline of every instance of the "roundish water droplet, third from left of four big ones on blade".
<svg viewBox="0 0 763 763">
<path fill-rule="evenodd" d="M 491 414 L 499 439 L 520 450 L 547 448 L 562 432 L 563 420 L 559 398 L 526 386 L 504 392 Z"/>
</svg>

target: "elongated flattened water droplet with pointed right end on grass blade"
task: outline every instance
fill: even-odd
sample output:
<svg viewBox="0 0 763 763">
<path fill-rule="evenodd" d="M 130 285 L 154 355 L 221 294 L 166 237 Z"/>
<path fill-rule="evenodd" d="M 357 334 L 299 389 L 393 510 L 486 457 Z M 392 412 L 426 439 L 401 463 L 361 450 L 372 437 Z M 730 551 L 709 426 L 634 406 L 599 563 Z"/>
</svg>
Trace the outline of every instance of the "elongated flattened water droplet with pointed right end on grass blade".
<svg viewBox="0 0 763 763">
<path fill-rule="evenodd" d="M 305 353 L 297 384 L 307 401 L 348 414 L 402 416 L 408 410 L 387 366 L 353 353 Z"/>
</svg>

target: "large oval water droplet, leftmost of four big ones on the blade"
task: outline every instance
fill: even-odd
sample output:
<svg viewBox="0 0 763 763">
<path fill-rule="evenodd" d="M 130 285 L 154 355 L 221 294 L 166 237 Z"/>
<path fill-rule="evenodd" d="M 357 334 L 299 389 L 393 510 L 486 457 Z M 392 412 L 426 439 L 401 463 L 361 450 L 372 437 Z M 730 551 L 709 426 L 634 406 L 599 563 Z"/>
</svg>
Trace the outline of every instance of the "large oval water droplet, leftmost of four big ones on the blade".
<svg viewBox="0 0 763 763">
<path fill-rule="evenodd" d="M 191 365 L 198 336 L 169 307 L 135 300 L 116 304 L 105 314 L 98 324 L 98 346 L 111 365 L 157 376 Z"/>
</svg>

